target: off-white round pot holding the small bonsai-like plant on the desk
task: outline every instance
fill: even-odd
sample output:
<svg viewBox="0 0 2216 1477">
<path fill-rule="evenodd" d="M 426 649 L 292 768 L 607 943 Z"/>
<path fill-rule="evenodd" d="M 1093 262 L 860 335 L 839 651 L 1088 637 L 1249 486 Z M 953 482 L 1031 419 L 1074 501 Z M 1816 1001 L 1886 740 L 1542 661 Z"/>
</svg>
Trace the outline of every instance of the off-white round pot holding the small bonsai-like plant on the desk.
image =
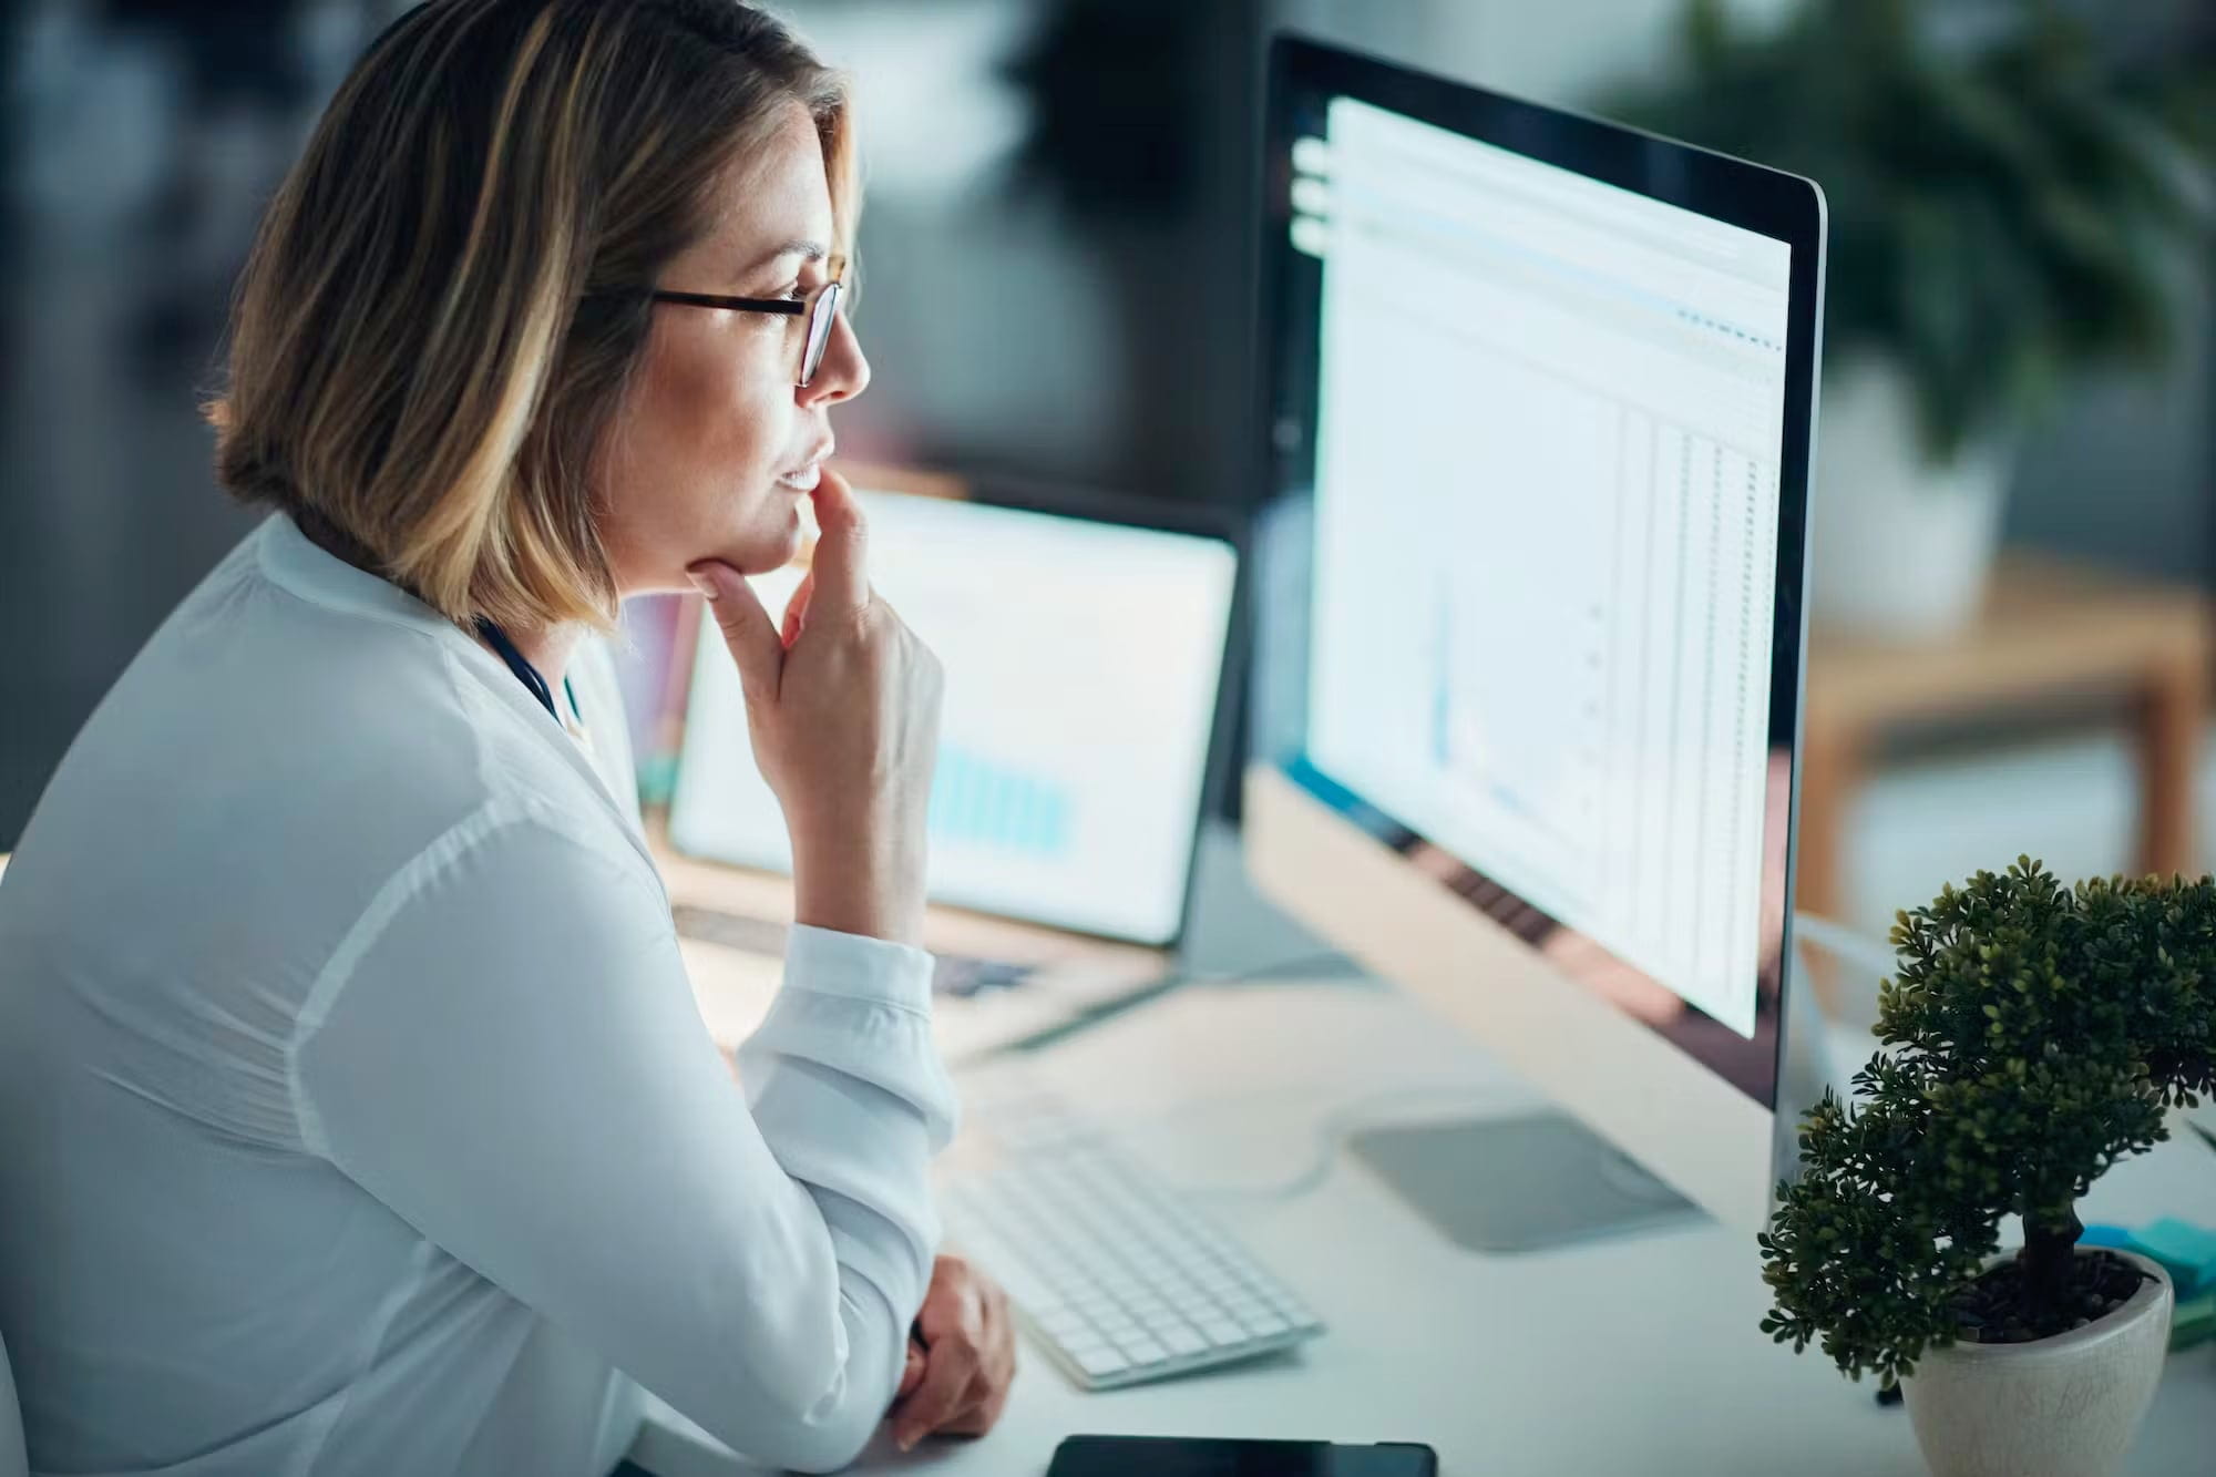
<svg viewBox="0 0 2216 1477">
<path fill-rule="evenodd" d="M 2092 1249 L 2079 1249 L 2092 1255 Z M 2123 1466 L 2169 1351 L 2169 1277 L 2147 1273 L 2107 1317 L 2037 1344 L 1955 1344 L 1901 1382 L 1932 1477 L 2107 1477 Z"/>
</svg>

